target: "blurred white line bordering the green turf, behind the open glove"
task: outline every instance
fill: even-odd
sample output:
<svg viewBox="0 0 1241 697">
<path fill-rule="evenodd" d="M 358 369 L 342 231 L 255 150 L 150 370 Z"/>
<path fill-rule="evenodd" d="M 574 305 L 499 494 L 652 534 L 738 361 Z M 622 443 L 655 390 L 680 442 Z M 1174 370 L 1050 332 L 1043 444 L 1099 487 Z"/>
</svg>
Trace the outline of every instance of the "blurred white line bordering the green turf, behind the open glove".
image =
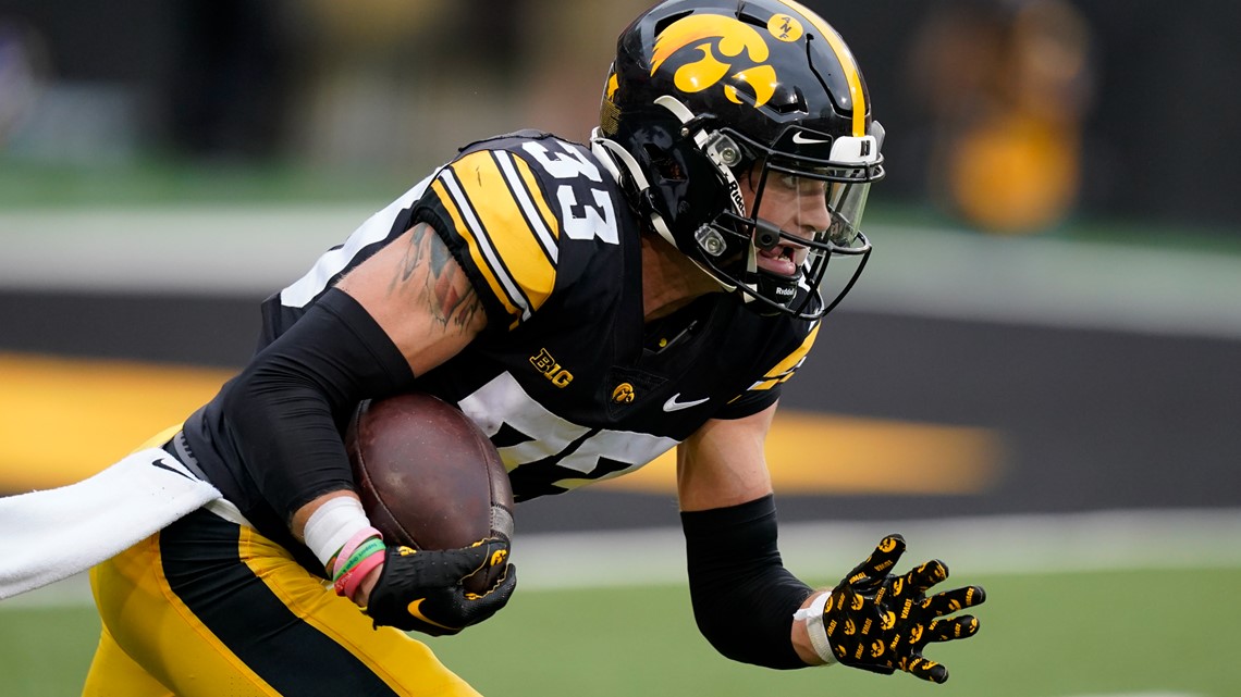
<svg viewBox="0 0 1241 697">
<path fill-rule="evenodd" d="M 937 557 L 951 566 L 957 578 L 1241 568 L 1241 510 L 788 523 L 781 526 L 781 552 L 786 566 L 807 582 L 830 583 L 889 532 L 905 536 L 905 562 Z M 526 592 L 685 583 L 679 530 L 521 536 L 519 520 L 513 558 Z M 5 600 L 0 611 L 89 602 L 88 584 L 79 575 Z"/>
</svg>

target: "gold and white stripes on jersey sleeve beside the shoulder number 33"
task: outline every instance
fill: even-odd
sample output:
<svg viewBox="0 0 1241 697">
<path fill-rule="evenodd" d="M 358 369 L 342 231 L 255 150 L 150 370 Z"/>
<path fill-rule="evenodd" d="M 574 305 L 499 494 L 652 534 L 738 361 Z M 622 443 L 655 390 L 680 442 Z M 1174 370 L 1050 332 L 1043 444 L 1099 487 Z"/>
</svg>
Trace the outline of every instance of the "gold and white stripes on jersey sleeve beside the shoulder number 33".
<svg viewBox="0 0 1241 697">
<path fill-rule="evenodd" d="M 535 226 L 546 226 L 546 217 L 529 221 L 516 197 L 529 197 L 541 203 L 544 212 L 550 212 L 539 189 L 529 189 L 522 179 L 506 177 L 496 158 L 489 151 L 465 155 L 452 165 L 452 171 L 465 197 L 465 205 L 473 208 L 479 228 L 474 231 L 477 239 L 484 238 L 494 251 L 486 254 L 491 270 L 501 279 L 509 279 L 506 286 L 521 299 L 529 317 L 551 295 L 556 284 L 556 265 L 546 249 L 555 244 L 549 238 L 550 232 L 540 234 Z M 504 196 L 501 192 L 513 195 Z M 537 206 L 537 203 L 536 203 Z"/>
</svg>

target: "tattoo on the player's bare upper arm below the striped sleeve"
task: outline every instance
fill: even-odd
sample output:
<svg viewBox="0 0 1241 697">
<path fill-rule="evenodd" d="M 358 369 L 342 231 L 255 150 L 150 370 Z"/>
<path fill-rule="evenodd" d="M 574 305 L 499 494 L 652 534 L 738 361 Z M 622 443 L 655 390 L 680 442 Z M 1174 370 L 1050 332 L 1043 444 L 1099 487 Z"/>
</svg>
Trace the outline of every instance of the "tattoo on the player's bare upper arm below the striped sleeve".
<svg viewBox="0 0 1241 697">
<path fill-rule="evenodd" d="M 424 273 L 419 269 L 424 268 Z M 423 290 L 418 293 L 432 316 L 442 326 L 469 327 L 483 313 L 483 303 L 473 285 L 464 278 L 448 248 L 427 223 L 418 223 L 410 236 L 410 246 L 401 259 L 401 268 L 388 291 L 401 293 L 411 279 L 422 275 Z M 464 288 L 457 285 L 464 280 Z"/>
</svg>

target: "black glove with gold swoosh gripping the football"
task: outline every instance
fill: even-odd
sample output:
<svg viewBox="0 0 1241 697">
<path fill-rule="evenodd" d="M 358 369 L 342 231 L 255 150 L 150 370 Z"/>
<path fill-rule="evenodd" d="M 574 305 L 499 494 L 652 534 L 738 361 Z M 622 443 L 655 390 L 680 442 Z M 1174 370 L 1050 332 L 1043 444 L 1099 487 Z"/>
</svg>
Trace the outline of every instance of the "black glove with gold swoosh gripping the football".
<svg viewBox="0 0 1241 697">
<path fill-rule="evenodd" d="M 482 595 L 462 587 L 463 578 L 505 564 L 508 556 L 509 543 L 503 539 L 484 539 L 448 551 L 388 547 L 366 614 L 376 626 L 390 625 L 431 636 L 457 634 L 490 618 L 509 602 L 517 585 L 513 564 Z"/>
</svg>

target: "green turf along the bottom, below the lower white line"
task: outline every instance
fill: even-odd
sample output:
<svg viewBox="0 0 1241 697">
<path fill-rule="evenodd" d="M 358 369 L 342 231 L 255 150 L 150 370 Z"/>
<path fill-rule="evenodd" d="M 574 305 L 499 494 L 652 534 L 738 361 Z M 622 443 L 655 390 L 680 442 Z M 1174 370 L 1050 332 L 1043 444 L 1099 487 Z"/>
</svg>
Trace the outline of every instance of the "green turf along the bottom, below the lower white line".
<svg viewBox="0 0 1241 697">
<path fill-rule="evenodd" d="M 928 654 L 944 686 L 844 667 L 777 672 L 720 659 L 683 588 L 519 592 L 493 621 L 431 640 L 485 695 L 1241 695 L 1241 569 L 983 577 L 980 634 Z M 5 696 L 76 695 L 98 621 L 88 606 L 0 604 Z"/>
</svg>

